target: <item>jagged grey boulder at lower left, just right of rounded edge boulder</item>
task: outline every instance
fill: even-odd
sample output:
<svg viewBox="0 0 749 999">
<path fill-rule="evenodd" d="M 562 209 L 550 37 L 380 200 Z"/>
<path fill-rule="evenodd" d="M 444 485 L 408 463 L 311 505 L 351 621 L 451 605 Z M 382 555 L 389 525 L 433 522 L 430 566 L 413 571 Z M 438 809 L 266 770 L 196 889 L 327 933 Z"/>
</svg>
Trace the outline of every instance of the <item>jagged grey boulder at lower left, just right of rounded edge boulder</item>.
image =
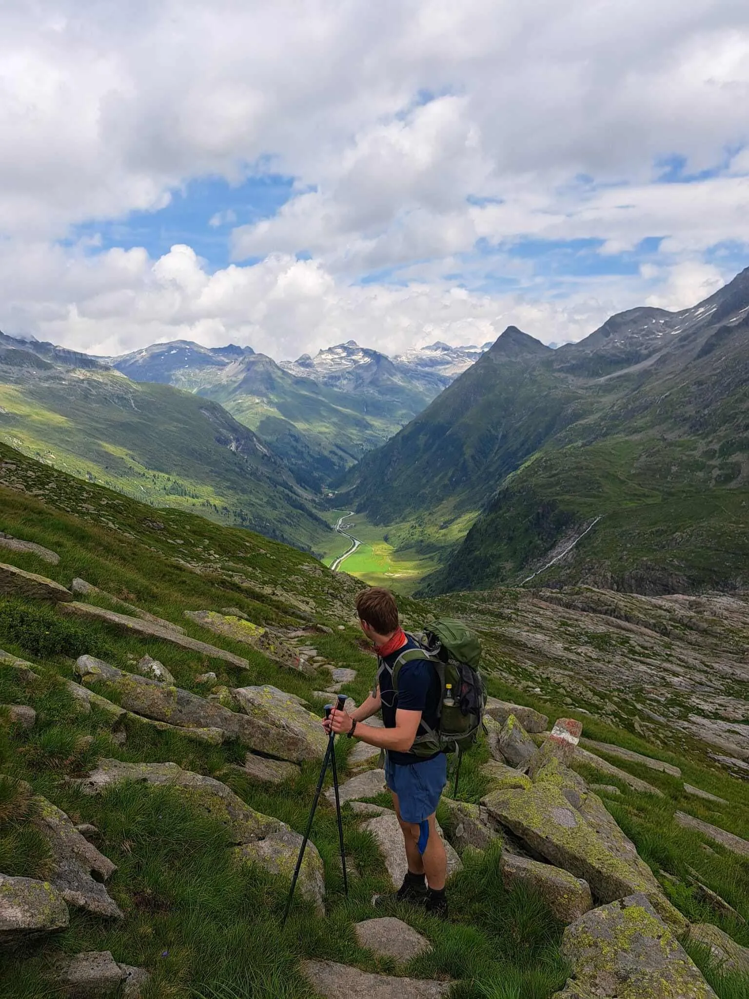
<svg viewBox="0 0 749 999">
<path fill-rule="evenodd" d="M 81 835 L 64 811 L 43 797 L 35 797 L 34 802 L 37 808 L 32 822 L 47 840 L 54 863 L 50 884 L 68 905 L 122 919 L 123 913 L 104 886 L 117 870 L 112 861 Z"/>
</svg>

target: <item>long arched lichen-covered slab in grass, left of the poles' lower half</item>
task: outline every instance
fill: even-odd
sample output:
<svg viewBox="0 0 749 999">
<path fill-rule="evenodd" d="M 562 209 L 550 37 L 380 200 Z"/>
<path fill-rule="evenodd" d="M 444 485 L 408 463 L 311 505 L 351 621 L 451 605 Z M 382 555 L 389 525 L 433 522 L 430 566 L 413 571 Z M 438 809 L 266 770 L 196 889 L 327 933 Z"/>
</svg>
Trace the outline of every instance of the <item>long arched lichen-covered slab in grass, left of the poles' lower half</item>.
<svg viewBox="0 0 749 999">
<path fill-rule="evenodd" d="M 123 763 L 118 759 L 102 759 L 98 769 L 75 783 L 85 794 L 100 794 L 106 787 L 123 780 L 175 788 L 186 801 L 225 825 L 235 843 L 251 843 L 287 828 L 280 819 L 255 811 L 220 780 L 183 770 L 177 763 Z"/>
</svg>

